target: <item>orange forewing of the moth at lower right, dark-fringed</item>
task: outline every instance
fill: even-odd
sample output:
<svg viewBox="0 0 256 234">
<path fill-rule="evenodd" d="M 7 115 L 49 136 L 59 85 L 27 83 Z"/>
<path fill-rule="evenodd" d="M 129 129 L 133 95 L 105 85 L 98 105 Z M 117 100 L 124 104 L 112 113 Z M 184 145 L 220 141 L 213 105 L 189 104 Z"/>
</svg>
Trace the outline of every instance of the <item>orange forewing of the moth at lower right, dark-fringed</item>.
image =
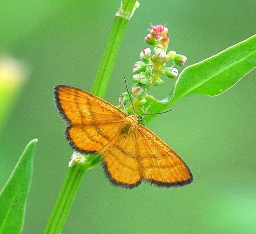
<svg viewBox="0 0 256 234">
<path fill-rule="evenodd" d="M 138 125 L 135 137 L 144 181 L 159 187 L 178 187 L 193 181 L 185 162 L 147 127 Z"/>
</svg>

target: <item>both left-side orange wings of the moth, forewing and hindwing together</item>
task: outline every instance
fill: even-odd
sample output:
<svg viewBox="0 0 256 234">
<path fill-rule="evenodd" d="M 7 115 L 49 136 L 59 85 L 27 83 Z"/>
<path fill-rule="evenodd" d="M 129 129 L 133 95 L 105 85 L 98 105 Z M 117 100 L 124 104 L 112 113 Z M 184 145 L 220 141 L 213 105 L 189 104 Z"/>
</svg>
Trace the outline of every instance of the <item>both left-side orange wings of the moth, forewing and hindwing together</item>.
<svg viewBox="0 0 256 234">
<path fill-rule="evenodd" d="M 107 101 L 65 85 L 54 87 L 54 97 L 74 150 L 98 153 L 120 134 L 126 114 Z"/>
</svg>

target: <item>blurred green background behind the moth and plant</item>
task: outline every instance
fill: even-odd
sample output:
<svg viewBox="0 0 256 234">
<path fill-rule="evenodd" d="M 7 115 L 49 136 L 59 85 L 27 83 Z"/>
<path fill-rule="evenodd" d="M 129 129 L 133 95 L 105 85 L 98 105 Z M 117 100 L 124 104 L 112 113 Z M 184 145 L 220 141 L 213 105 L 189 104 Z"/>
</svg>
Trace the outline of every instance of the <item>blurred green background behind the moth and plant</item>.
<svg viewBox="0 0 256 234">
<path fill-rule="evenodd" d="M 150 23 L 167 24 L 169 50 L 185 54 L 186 65 L 255 33 L 255 0 L 140 3 L 105 97 L 115 105 L 125 91 L 123 75 L 132 86 L 132 68 L 147 47 L 143 39 Z M 9 115 L 0 128 L 0 187 L 26 144 L 39 140 L 23 234 L 42 233 L 72 154 L 63 134 L 65 124 L 54 107 L 53 87 L 67 84 L 91 90 L 119 4 L 119 0 L 0 2 L 0 58 L 27 67 L 19 91 L 13 91 L 11 98 L 0 93 L 0 100 L 11 108 L 5 110 Z M 85 176 L 62 233 L 255 233 L 255 76 L 255 71 L 249 73 L 217 97 L 188 96 L 175 104 L 174 112 L 149 126 L 190 167 L 191 185 L 164 189 L 142 184 L 126 190 L 110 185 L 97 167 Z M 152 88 L 158 99 L 174 85 L 174 80 L 164 80 L 164 86 Z"/>
</svg>

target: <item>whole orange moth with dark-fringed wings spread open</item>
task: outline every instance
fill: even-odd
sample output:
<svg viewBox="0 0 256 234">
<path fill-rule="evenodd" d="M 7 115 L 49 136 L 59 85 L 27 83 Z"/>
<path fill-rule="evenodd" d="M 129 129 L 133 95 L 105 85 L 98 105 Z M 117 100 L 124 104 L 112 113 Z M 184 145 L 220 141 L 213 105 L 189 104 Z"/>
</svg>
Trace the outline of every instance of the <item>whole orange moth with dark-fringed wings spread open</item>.
<svg viewBox="0 0 256 234">
<path fill-rule="evenodd" d="M 54 87 L 56 107 L 66 120 L 66 138 L 81 154 L 102 154 L 110 182 L 133 188 L 141 181 L 179 187 L 193 181 L 189 167 L 156 134 L 109 102 L 79 88 Z"/>
</svg>

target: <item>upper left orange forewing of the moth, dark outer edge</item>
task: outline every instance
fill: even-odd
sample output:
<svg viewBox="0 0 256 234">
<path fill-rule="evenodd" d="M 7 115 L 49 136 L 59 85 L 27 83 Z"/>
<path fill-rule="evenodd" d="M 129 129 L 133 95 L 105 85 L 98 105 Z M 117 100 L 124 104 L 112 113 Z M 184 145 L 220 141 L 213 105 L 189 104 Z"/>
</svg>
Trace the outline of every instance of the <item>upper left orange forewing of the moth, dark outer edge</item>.
<svg viewBox="0 0 256 234">
<path fill-rule="evenodd" d="M 69 125 L 115 122 L 126 116 L 114 105 L 79 88 L 57 85 L 54 98 L 59 113 Z"/>
</svg>

